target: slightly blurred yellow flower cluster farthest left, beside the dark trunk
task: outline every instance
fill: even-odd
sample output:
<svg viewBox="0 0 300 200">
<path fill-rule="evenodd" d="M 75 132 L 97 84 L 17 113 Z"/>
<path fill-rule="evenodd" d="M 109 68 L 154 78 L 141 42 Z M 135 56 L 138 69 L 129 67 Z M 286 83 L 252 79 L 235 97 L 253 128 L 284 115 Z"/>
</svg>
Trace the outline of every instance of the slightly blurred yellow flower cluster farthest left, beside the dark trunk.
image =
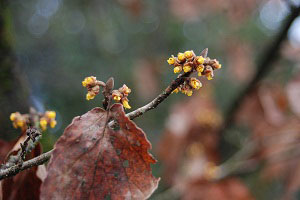
<svg viewBox="0 0 300 200">
<path fill-rule="evenodd" d="M 13 127 L 20 128 L 22 130 L 26 130 L 28 128 L 28 124 L 36 124 L 35 121 L 32 120 L 38 120 L 39 126 L 43 131 L 47 129 L 47 125 L 50 125 L 51 128 L 54 128 L 57 123 L 55 117 L 55 111 L 46 111 L 44 114 L 20 114 L 19 112 L 10 114 L 10 120 L 13 122 Z"/>
</svg>

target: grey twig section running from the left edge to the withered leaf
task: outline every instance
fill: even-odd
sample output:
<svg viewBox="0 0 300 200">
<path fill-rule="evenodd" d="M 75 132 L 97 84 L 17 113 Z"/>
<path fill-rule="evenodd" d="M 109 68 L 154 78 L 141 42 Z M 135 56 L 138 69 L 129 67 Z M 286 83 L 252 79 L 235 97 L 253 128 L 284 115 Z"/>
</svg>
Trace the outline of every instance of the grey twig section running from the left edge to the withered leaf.
<svg viewBox="0 0 300 200">
<path fill-rule="evenodd" d="M 11 176 L 14 176 L 18 173 L 20 173 L 21 171 L 31 168 L 31 167 L 35 167 L 38 165 L 42 165 L 44 163 L 46 163 L 50 157 L 51 157 L 51 153 L 53 150 L 48 151 L 47 153 L 43 153 L 41 155 L 39 155 L 38 157 L 35 157 L 33 159 L 30 159 L 26 162 L 23 163 L 23 165 L 14 165 L 10 168 L 4 169 L 0 171 L 0 180 L 4 179 L 4 178 L 8 178 Z"/>
</svg>

